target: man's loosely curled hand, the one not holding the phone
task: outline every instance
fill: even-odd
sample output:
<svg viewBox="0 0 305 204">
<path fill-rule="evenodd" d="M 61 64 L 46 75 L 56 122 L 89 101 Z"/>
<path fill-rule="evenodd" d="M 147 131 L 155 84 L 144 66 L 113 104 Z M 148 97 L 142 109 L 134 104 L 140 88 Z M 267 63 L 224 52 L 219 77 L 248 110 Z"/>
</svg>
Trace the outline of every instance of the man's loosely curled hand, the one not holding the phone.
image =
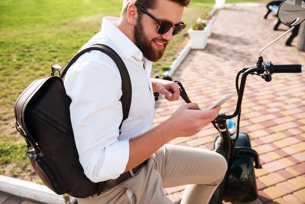
<svg viewBox="0 0 305 204">
<path fill-rule="evenodd" d="M 165 95 L 165 99 L 169 101 L 177 101 L 180 96 L 179 85 L 175 82 L 152 78 L 153 92 L 159 92 Z"/>
</svg>

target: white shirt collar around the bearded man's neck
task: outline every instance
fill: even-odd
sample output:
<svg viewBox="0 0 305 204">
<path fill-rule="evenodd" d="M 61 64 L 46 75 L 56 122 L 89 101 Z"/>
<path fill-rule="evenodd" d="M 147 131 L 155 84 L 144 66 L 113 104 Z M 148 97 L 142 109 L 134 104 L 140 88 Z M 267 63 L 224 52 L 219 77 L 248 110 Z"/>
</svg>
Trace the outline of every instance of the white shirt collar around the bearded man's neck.
<svg viewBox="0 0 305 204">
<path fill-rule="evenodd" d="M 114 42 L 126 59 L 133 56 L 142 60 L 143 54 L 139 48 L 115 26 L 118 20 L 116 17 L 103 17 L 102 33 Z"/>
</svg>

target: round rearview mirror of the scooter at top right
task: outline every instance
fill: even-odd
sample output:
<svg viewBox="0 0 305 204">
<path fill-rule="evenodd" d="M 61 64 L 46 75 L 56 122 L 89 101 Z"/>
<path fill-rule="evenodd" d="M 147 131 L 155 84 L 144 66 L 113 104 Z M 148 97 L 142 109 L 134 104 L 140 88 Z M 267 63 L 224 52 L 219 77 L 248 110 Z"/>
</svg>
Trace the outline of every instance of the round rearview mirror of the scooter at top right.
<svg viewBox="0 0 305 204">
<path fill-rule="evenodd" d="M 288 26 L 295 26 L 305 20 L 305 0 L 285 0 L 278 11 L 281 22 Z"/>
</svg>

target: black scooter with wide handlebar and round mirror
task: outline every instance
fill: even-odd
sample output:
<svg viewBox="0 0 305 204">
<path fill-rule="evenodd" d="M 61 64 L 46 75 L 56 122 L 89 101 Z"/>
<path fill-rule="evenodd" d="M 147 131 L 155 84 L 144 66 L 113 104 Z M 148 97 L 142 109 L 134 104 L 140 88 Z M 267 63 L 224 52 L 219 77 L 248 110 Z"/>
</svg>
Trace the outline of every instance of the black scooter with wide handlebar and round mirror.
<svg viewBox="0 0 305 204">
<path fill-rule="evenodd" d="M 273 73 L 302 72 L 303 64 L 274 65 L 271 61 L 264 62 L 262 52 L 305 20 L 305 0 L 283 1 L 278 10 L 278 17 L 283 24 L 290 26 L 290 29 L 260 50 L 256 66 L 243 68 L 238 72 L 236 76 L 238 101 L 235 112 L 231 115 L 226 115 L 225 113 L 219 114 L 212 122 L 214 127 L 219 131 L 219 135 L 214 142 L 214 151 L 226 158 L 229 168 L 223 182 L 214 192 L 209 204 L 222 204 L 224 199 L 232 203 L 246 203 L 255 201 L 258 198 L 254 167 L 262 168 L 262 165 L 260 164 L 258 153 L 251 148 L 248 134 L 239 131 L 241 104 L 246 79 L 250 74 L 260 76 L 266 82 L 270 82 Z M 241 81 L 239 84 L 240 76 Z M 162 76 L 161 79 L 172 81 L 170 76 Z M 181 98 L 187 103 L 191 102 L 182 84 L 178 81 L 174 82 L 180 86 Z M 155 93 L 155 100 L 157 98 L 158 93 Z M 236 116 L 237 122 L 232 120 Z M 180 201 L 181 198 L 175 204 L 180 204 Z"/>
</svg>

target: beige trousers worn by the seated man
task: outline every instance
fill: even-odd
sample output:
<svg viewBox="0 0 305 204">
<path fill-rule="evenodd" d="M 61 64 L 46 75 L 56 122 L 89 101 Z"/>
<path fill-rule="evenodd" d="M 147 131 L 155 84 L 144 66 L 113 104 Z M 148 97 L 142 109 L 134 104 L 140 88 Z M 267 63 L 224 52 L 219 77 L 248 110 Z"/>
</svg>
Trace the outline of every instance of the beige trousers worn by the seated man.
<svg viewBox="0 0 305 204">
<path fill-rule="evenodd" d="M 186 185 L 181 204 L 208 204 L 227 162 L 210 150 L 166 144 L 133 178 L 78 204 L 173 204 L 163 188 Z"/>
</svg>

